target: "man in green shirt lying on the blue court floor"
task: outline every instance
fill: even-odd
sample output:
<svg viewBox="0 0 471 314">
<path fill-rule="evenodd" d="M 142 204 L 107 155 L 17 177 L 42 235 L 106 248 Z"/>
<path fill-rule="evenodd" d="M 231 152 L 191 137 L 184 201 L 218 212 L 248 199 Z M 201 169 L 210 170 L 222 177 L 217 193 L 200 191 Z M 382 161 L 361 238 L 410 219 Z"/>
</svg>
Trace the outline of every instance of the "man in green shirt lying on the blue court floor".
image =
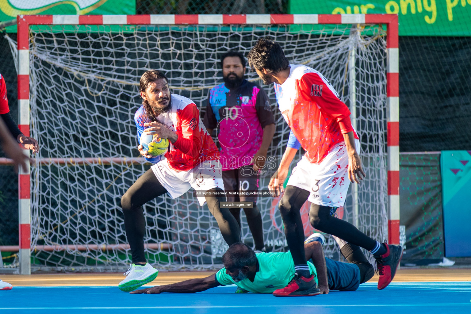
<svg viewBox="0 0 471 314">
<path fill-rule="evenodd" d="M 356 245 L 343 242 L 342 255 L 349 263 L 334 261 L 324 257 L 322 244 L 318 241 L 304 245 L 309 271 L 314 275 L 317 285 L 307 291 L 306 296 L 327 294 L 329 290 L 353 291 L 360 283 L 373 277 L 373 266 Z M 244 243 L 232 244 L 222 257 L 224 268 L 206 278 L 190 279 L 169 285 L 155 286 L 130 293 L 194 293 L 217 286 L 235 283 L 236 292 L 273 293 L 282 289 L 294 276 L 291 253 L 257 253 Z M 299 277 L 297 277 L 299 278 Z M 302 280 L 302 279 L 300 279 Z"/>
</svg>

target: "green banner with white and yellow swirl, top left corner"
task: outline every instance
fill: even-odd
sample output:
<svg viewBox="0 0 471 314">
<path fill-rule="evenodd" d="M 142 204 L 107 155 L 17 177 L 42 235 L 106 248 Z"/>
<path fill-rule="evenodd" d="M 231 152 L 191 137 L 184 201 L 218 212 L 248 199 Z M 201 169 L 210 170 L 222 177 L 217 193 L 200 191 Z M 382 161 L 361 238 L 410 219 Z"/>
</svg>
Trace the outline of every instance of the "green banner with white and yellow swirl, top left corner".
<svg viewBox="0 0 471 314">
<path fill-rule="evenodd" d="M 22 14 L 136 14 L 136 0 L 0 0 L 0 21 Z M 16 25 L 7 32 L 16 32 Z"/>
</svg>

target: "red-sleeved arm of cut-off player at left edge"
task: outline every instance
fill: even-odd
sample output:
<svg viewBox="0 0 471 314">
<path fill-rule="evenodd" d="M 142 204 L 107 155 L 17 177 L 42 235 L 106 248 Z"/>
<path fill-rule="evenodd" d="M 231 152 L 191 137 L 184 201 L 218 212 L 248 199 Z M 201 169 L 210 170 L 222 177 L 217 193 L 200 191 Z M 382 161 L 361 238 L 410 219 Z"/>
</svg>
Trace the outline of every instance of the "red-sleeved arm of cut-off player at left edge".
<svg viewBox="0 0 471 314">
<path fill-rule="evenodd" d="M 0 74 L 0 116 L 5 122 L 8 130 L 11 135 L 20 143 L 24 148 L 31 149 L 32 153 L 37 153 L 39 151 L 38 141 L 32 137 L 25 136 L 23 132 L 18 129 L 18 125 L 13 120 L 10 114 L 10 108 L 8 107 L 8 98 L 7 98 L 7 85 L 5 84 L 5 79 L 3 75 Z M 29 132 L 29 130 L 28 130 Z"/>
</svg>

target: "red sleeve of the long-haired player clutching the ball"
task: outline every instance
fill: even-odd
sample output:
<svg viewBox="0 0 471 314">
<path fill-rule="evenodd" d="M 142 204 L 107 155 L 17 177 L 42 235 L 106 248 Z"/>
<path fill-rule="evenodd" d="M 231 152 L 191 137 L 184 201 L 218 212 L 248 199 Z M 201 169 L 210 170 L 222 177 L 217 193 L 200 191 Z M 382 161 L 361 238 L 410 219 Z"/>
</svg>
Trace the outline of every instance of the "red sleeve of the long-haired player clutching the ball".
<svg viewBox="0 0 471 314">
<path fill-rule="evenodd" d="M 203 140 L 199 127 L 200 113 L 195 104 L 189 104 L 185 108 L 177 111 L 178 139 L 173 144 L 180 152 L 196 158 L 200 155 L 203 147 Z"/>
</svg>

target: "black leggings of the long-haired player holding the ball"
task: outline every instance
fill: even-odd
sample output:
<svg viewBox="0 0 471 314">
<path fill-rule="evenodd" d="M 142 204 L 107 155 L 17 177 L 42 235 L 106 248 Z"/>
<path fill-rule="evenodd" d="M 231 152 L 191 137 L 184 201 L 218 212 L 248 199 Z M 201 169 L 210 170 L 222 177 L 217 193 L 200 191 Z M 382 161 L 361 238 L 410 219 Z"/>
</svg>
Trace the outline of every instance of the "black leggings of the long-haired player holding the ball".
<svg viewBox="0 0 471 314">
<path fill-rule="evenodd" d="M 214 191 L 213 191 L 214 190 Z M 221 189 L 211 189 L 217 192 Z M 152 169 L 149 169 L 129 188 L 121 198 L 121 207 L 124 214 L 124 227 L 131 249 L 132 262 L 145 263 L 144 234 L 146 233 L 146 219 L 142 205 L 154 198 L 167 193 Z M 219 202 L 225 201 L 224 196 L 206 196 L 206 202 L 211 214 L 218 222 L 221 234 L 227 244 L 240 242 L 239 226 L 229 209 L 220 209 Z"/>
</svg>

